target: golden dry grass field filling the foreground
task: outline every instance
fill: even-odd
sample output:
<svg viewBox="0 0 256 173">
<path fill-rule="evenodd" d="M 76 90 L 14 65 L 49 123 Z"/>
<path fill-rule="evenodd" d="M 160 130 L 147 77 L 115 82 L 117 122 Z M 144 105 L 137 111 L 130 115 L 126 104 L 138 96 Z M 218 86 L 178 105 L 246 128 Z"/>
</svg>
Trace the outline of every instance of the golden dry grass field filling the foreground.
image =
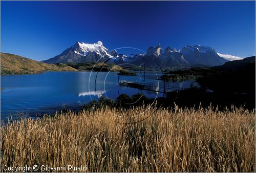
<svg viewBox="0 0 256 173">
<path fill-rule="evenodd" d="M 9 123 L 1 128 L 1 171 L 3 165 L 70 164 L 91 172 L 255 172 L 254 111 L 176 106 L 126 118 L 144 110 L 105 107 Z"/>
</svg>

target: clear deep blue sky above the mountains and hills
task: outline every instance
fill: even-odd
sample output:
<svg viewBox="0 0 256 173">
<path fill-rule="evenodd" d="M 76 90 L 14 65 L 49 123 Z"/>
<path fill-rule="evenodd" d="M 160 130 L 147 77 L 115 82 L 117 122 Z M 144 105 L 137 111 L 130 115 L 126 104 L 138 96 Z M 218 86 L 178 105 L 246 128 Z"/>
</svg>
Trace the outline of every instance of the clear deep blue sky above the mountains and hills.
<svg viewBox="0 0 256 173">
<path fill-rule="evenodd" d="M 248 57 L 255 55 L 255 2 L 1 1 L 1 52 L 44 60 L 76 41 L 98 40 L 109 50 L 200 44 Z"/>
</svg>

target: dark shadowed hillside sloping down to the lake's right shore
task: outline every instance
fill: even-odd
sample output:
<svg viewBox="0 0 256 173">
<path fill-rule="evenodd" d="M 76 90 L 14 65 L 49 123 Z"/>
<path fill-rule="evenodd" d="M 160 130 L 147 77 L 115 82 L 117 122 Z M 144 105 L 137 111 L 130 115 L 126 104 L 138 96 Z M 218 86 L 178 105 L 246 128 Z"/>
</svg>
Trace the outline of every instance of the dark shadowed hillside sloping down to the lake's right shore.
<svg viewBox="0 0 256 173">
<path fill-rule="evenodd" d="M 254 102 L 255 106 L 255 56 L 229 61 L 211 69 L 216 73 L 199 79 L 201 87 L 223 93 L 252 94 L 248 104 Z"/>
</svg>

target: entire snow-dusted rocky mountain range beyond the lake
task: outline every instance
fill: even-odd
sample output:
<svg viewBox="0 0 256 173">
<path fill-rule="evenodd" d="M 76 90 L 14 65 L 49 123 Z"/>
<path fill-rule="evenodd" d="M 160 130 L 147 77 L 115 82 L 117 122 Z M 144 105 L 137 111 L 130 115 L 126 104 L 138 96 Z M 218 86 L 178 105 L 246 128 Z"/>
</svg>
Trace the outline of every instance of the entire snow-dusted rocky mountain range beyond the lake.
<svg viewBox="0 0 256 173">
<path fill-rule="evenodd" d="M 222 55 L 222 54 L 221 54 Z M 220 66 L 229 61 L 221 57 L 215 49 L 208 46 L 184 46 L 182 50 L 170 47 L 161 48 L 161 45 L 151 46 L 144 54 L 126 56 L 118 54 L 116 50 L 109 51 L 103 46 L 101 41 L 95 44 L 76 42 L 73 46 L 63 51 L 61 54 L 44 60 L 46 63 L 84 63 L 84 62 L 104 62 L 110 59 L 112 63 L 147 63 L 150 66 L 174 67 L 174 66 Z"/>
</svg>

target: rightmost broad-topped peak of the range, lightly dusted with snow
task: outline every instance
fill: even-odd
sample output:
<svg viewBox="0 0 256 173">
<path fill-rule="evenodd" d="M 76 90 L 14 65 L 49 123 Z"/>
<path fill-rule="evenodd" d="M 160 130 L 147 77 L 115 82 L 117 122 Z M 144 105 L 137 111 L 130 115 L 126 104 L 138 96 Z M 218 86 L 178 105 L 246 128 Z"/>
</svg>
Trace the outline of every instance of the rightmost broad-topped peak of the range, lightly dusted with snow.
<svg viewBox="0 0 256 173">
<path fill-rule="evenodd" d="M 213 48 L 208 46 L 186 45 L 182 48 L 181 53 L 190 64 L 219 66 L 228 61 L 223 57 L 220 57 Z"/>
</svg>

